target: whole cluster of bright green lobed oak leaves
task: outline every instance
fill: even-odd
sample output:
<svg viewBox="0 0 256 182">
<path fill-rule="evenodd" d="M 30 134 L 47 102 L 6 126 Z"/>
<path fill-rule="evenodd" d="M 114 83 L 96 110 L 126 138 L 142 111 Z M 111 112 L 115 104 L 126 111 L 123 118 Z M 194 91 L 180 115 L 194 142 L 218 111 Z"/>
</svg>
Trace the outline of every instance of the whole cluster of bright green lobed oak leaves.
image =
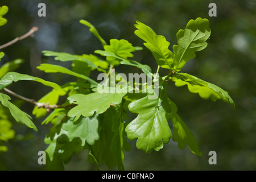
<svg viewBox="0 0 256 182">
<path fill-rule="evenodd" d="M 42 78 L 9 72 L 14 68 L 11 64 L 8 67 L 12 68 L 5 69 L 6 74 L 0 80 L 0 90 L 12 84 L 13 81 L 20 80 L 41 82 L 52 87 L 53 90 L 39 100 L 39 103 L 55 105 L 60 97 L 68 94 L 67 100 L 60 105 L 61 108 L 55 108 L 42 123 L 51 122 L 53 125 L 44 140 L 49 144 L 46 149 L 47 168 L 64 169 L 64 164 L 71 160 L 75 152 L 85 149 L 89 151 L 88 159 L 96 164 L 98 169 L 100 169 L 99 164 L 104 163 L 109 168 L 117 166 L 118 169 L 123 170 L 125 169 L 123 151 L 130 150 L 127 139 L 137 139 L 137 148 L 150 153 L 152 150 L 159 151 L 163 148 L 163 143 L 170 142 L 172 137 L 175 142 L 178 142 L 181 150 L 188 145 L 193 154 L 201 156 L 195 137 L 177 114 L 176 104 L 167 96 L 167 84 L 173 81 L 176 86 L 188 85 L 190 92 L 199 93 L 199 96 L 204 99 L 223 100 L 235 106 L 225 90 L 187 73 L 179 73 L 184 65 L 196 56 L 195 52 L 207 47 L 206 40 L 210 36 L 209 21 L 202 18 L 190 20 L 184 30 L 177 32 L 177 45 L 173 46 L 173 52 L 168 48 L 170 43 L 164 36 L 156 35 L 146 24 L 137 21 L 135 35 L 146 42 L 144 46 L 150 49 L 154 56 L 158 71 L 160 68 L 170 71 L 168 75 L 159 78 L 155 77 L 148 65 L 130 59 L 134 57 L 133 52 L 141 50 L 141 47 L 134 47 L 125 39 L 111 39 L 108 45 L 92 24 L 86 20 L 80 20 L 80 23 L 90 28 L 90 31 L 100 40 L 104 50 L 94 51 L 97 55 L 71 55 L 64 52 L 43 51 L 45 56 L 55 56 L 55 60 L 71 61 L 72 71 L 53 64 L 41 64 L 37 67 L 46 73 L 64 73 L 77 77 L 77 82 L 67 82 L 59 86 Z M 19 64 L 14 65 L 16 67 Z M 153 76 L 155 82 L 159 79 L 159 86 L 155 85 L 154 88 L 159 91 L 158 97 L 151 100 L 150 92 L 147 92 L 146 96 L 139 94 L 136 99 L 127 92 L 113 93 L 111 90 L 115 89 L 119 82 L 114 82 L 114 85 L 112 83 L 108 88 L 106 85 L 108 81 L 104 82 L 104 88 L 110 93 L 98 92 L 96 89 L 98 83 L 90 78 L 90 73 L 103 72 L 109 78 L 108 80 L 111 80 L 113 69 L 119 65 L 139 68 L 142 72 Z M 128 85 L 129 82 L 126 84 Z M 134 83 L 134 85 L 137 84 L 139 83 Z M 147 83 L 147 91 L 150 86 Z M 127 89 L 129 90 L 128 87 L 121 88 L 121 90 Z M 139 92 L 142 93 L 142 91 L 142 88 L 139 88 Z M 2 105 L 9 108 L 14 119 L 37 131 L 31 117 L 11 104 L 9 100 L 9 96 L 0 93 Z M 133 121 L 124 117 L 128 110 L 138 114 Z M 40 118 L 45 116 L 47 111 L 47 108 L 36 106 L 32 114 Z M 173 134 L 168 123 L 170 119 Z M 7 130 L 9 129 L 10 126 L 7 126 Z"/>
</svg>

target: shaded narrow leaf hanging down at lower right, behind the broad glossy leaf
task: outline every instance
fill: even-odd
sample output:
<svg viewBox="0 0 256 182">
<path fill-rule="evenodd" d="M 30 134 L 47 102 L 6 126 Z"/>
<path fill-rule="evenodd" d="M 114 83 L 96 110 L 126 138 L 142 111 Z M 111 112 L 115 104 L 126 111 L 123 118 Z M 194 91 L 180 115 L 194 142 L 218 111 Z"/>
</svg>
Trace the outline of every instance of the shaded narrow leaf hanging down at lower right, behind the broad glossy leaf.
<svg viewBox="0 0 256 182">
<path fill-rule="evenodd" d="M 178 142 L 179 148 L 184 150 L 186 144 L 188 144 L 189 150 L 193 154 L 202 155 L 202 152 L 199 149 L 196 139 L 188 129 L 188 126 L 182 121 L 182 119 L 177 114 L 177 106 L 174 102 L 168 99 L 168 102 L 171 105 L 171 113 L 167 113 L 168 117 L 172 119 L 172 126 L 174 127 L 174 132 L 172 134 L 172 140 Z"/>
</svg>

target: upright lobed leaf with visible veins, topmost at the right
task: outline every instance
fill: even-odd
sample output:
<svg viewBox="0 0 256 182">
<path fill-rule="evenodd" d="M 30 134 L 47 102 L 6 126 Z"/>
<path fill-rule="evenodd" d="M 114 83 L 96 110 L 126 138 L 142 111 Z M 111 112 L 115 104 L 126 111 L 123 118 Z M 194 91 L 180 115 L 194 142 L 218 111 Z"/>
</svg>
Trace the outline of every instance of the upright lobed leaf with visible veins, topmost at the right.
<svg viewBox="0 0 256 182">
<path fill-rule="evenodd" d="M 173 46 L 174 69 L 179 72 L 189 60 L 196 57 L 196 51 L 207 47 L 205 41 L 210 36 L 209 20 L 189 20 L 185 30 L 179 30 L 176 36 L 178 44 Z"/>
</svg>

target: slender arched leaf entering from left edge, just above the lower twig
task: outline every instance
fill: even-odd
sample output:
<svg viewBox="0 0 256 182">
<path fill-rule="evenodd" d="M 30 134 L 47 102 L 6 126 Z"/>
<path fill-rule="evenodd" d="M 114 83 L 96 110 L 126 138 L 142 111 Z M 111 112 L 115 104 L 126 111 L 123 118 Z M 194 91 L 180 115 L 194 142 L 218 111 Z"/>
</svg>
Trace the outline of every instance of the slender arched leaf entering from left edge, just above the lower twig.
<svg viewBox="0 0 256 182">
<path fill-rule="evenodd" d="M 13 81 L 20 81 L 20 80 L 31 80 L 31 81 L 37 81 L 42 83 L 43 85 L 50 86 L 56 90 L 62 90 L 61 87 L 53 82 L 45 81 L 42 78 L 37 78 L 34 76 L 29 76 L 29 75 L 24 75 L 16 72 L 9 72 L 5 76 L 2 77 L 0 80 L 0 90 L 5 88 L 6 86 L 10 85 L 13 83 Z"/>
</svg>

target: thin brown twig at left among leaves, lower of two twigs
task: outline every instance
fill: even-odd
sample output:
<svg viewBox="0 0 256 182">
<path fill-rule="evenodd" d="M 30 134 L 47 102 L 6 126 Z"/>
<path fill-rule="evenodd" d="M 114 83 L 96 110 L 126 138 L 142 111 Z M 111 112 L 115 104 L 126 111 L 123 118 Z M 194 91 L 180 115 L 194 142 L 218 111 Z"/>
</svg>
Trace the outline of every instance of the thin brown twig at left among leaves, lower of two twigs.
<svg viewBox="0 0 256 182">
<path fill-rule="evenodd" d="M 57 109 L 57 108 L 64 108 L 64 109 L 67 109 L 68 107 L 71 107 L 71 106 L 74 106 L 73 104 L 70 104 L 70 105 L 64 105 L 64 106 L 60 106 L 60 105 L 50 105 L 49 102 L 48 103 L 45 103 L 45 102 L 42 102 L 42 103 L 39 103 L 39 102 L 36 102 L 34 99 L 30 99 L 30 98 L 26 98 L 26 97 L 23 97 L 23 96 L 20 96 L 19 94 L 16 94 L 15 92 L 7 89 L 7 88 L 3 88 L 3 90 L 5 90 L 5 92 L 11 94 L 12 96 L 18 98 L 19 100 L 22 100 L 22 101 L 25 101 L 25 102 L 28 102 L 32 105 L 35 105 L 37 106 L 38 108 L 44 108 L 46 109 L 48 112 L 51 110 L 51 109 Z"/>
</svg>

